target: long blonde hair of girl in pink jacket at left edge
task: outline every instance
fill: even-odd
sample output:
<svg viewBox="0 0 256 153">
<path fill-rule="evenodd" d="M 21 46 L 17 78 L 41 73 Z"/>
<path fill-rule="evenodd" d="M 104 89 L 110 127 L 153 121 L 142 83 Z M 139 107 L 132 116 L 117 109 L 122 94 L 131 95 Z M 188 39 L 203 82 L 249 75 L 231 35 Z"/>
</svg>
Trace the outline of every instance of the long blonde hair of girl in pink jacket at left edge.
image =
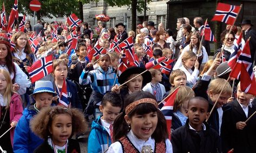
<svg viewBox="0 0 256 153">
<path fill-rule="evenodd" d="M 11 81 L 11 77 L 9 72 L 7 72 L 5 69 L 0 69 L 0 73 L 2 73 L 4 75 L 4 78 L 6 80 L 6 89 L 4 92 L 4 99 L 7 100 L 7 105 L 5 109 L 9 109 L 10 108 L 10 102 L 11 102 L 11 95 L 14 93 L 14 91 L 12 90 L 12 81 Z"/>
</svg>

